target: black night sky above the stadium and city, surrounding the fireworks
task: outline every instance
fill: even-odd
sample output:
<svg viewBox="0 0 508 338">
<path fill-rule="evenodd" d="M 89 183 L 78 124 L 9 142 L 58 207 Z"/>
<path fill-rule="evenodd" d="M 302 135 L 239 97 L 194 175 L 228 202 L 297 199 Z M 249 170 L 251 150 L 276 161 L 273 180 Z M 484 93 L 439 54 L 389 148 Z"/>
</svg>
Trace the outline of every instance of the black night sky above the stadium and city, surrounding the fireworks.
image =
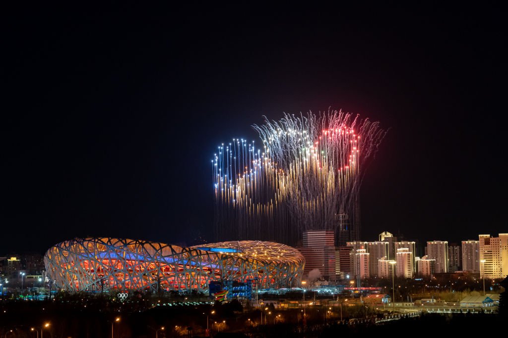
<svg viewBox="0 0 508 338">
<path fill-rule="evenodd" d="M 362 185 L 363 240 L 508 231 L 502 9 L 4 14 L 0 254 L 213 240 L 216 146 L 259 142 L 263 115 L 329 107 L 390 128 Z"/>
</svg>

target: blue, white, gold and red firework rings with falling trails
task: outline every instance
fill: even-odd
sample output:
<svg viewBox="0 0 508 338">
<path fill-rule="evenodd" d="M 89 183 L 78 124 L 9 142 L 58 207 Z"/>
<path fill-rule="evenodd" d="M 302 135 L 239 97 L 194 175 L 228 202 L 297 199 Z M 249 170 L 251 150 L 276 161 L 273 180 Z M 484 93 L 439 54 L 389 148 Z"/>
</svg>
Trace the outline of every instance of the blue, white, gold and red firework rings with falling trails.
<svg viewBox="0 0 508 338">
<path fill-rule="evenodd" d="M 212 161 L 217 237 L 295 245 L 304 231 L 334 229 L 345 214 L 359 239 L 362 169 L 386 135 L 379 123 L 329 110 L 252 127 L 260 148 L 233 139 Z"/>
</svg>

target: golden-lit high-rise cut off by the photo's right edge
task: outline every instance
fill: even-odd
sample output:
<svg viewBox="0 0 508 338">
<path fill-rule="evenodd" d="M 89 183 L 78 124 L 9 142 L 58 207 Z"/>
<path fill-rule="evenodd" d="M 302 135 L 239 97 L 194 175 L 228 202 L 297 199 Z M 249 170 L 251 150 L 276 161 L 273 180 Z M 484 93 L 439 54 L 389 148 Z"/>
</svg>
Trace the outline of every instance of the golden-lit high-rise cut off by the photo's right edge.
<svg viewBox="0 0 508 338">
<path fill-rule="evenodd" d="M 479 239 L 481 278 L 505 278 L 508 275 L 508 234 L 479 235 Z"/>
</svg>

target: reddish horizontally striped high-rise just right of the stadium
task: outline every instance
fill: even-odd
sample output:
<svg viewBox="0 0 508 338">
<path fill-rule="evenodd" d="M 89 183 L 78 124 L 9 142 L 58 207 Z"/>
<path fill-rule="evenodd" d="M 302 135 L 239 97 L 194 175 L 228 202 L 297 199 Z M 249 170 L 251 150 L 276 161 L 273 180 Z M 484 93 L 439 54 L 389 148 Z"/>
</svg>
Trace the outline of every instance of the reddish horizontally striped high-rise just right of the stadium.
<svg viewBox="0 0 508 338">
<path fill-rule="evenodd" d="M 335 277 L 335 235 L 333 230 L 313 230 L 303 233 L 303 247 L 298 250 L 305 257 L 303 273 L 317 269 L 321 276 Z"/>
</svg>

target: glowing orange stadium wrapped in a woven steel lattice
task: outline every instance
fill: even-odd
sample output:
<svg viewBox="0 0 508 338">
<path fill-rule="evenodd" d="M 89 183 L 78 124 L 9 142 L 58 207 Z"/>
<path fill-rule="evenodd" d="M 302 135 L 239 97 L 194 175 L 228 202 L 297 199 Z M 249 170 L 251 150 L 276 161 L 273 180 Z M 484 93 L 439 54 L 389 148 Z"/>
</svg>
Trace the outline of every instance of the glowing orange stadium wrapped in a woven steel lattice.
<svg viewBox="0 0 508 338">
<path fill-rule="evenodd" d="M 76 238 L 44 256 L 56 286 L 69 291 L 198 290 L 212 281 L 256 280 L 261 288 L 300 284 L 304 258 L 287 245 L 232 241 L 193 247 L 119 238 Z"/>
</svg>

